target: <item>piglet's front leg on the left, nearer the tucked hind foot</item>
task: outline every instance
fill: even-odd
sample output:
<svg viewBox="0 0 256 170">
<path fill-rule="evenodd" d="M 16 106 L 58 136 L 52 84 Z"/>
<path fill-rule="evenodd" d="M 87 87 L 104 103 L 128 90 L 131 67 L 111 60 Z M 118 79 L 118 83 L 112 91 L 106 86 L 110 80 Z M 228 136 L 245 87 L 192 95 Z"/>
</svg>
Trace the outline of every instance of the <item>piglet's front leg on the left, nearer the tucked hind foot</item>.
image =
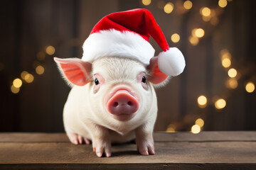
<svg viewBox="0 0 256 170">
<path fill-rule="evenodd" d="M 105 153 L 106 157 L 111 157 L 111 141 L 110 132 L 107 128 L 100 125 L 93 125 L 92 130 L 92 148 L 97 157 L 102 157 Z"/>
</svg>

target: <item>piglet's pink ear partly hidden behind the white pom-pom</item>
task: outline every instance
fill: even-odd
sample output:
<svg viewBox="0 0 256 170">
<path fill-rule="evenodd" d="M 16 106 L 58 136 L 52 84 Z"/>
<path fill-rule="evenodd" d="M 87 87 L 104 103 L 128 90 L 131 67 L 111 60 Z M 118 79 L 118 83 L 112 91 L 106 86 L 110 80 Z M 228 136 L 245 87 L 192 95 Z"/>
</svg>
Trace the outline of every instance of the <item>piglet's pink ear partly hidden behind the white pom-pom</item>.
<svg viewBox="0 0 256 170">
<path fill-rule="evenodd" d="M 168 81 L 168 76 L 162 73 L 158 67 L 158 57 L 151 58 L 149 66 L 147 66 L 146 69 L 151 72 L 151 75 L 149 76 L 149 81 L 152 84 L 164 85 L 164 82 Z"/>
</svg>

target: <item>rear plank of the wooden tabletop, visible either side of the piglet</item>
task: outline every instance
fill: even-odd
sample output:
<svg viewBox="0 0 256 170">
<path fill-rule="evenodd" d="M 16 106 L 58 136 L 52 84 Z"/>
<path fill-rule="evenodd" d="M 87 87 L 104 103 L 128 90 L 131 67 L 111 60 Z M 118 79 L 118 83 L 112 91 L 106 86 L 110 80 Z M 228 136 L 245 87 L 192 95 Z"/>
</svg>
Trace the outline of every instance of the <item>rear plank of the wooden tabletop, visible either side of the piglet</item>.
<svg viewBox="0 0 256 170">
<path fill-rule="evenodd" d="M 256 141 L 255 131 L 233 131 L 233 132 L 155 132 L 155 142 L 214 142 L 214 141 Z M 0 142 L 69 142 L 64 133 L 0 133 Z"/>
</svg>

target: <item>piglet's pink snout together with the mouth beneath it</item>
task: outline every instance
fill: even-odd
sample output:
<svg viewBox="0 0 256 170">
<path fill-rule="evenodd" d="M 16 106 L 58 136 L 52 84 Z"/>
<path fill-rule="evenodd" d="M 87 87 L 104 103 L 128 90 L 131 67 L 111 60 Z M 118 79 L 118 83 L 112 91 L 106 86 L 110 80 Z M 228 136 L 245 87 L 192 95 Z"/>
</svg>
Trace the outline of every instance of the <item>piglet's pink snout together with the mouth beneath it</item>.
<svg viewBox="0 0 256 170">
<path fill-rule="evenodd" d="M 127 86 L 117 86 L 108 98 L 107 111 L 116 120 L 132 119 L 139 108 L 137 96 Z"/>
</svg>

